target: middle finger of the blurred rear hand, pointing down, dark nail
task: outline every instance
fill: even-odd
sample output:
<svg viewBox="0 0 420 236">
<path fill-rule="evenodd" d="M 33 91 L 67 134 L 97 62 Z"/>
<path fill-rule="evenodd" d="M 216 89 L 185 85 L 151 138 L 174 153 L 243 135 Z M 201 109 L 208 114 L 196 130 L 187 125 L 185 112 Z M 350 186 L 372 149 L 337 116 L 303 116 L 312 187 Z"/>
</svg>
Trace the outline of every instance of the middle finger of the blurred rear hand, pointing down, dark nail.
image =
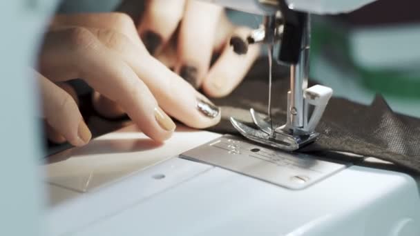
<svg viewBox="0 0 420 236">
<path fill-rule="evenodd" d="M 222 8 L 211 3 L 187 1 L 178 37 L 179 73 L 199 88 L 209 70 L 216 26 Z"/>
</svg>

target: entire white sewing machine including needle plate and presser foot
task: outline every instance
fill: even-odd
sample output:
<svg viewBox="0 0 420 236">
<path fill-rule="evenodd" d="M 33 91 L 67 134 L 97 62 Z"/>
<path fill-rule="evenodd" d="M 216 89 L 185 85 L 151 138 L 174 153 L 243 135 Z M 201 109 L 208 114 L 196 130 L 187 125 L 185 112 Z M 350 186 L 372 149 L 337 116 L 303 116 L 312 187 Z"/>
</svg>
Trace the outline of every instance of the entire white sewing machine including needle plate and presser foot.
<svg viewBox="0 0 420 236">
<path fill-rule="evenodd" d="M 292 44 L 282 43 L 278 57 L 292 72 L 287 124 L 271 127 L 267 120 L 251 112 L 259 130 L 249 130 L 235 119 L 232 123 L 242 135 L 257 143 L 179 128 L 163 146 L 154 146 L 134 126 L 129 126 L 98 137 L 86 147 L 54 155 L 50 157 L 52 163 L 41 167 L 46 173 L 44 180 L 49 196 L 45 218 L 47 235 L 420 235 L 417 178 L 287 152 L 316 138 L 313 128 L 332 92 L 325 87 L 306 89 L 310 17 L 299 11 L 348 12 L 370 1 L 213 0 L 231 8 L 268 15 L 264 28 L 251 35 L 254 39 L 249 43 L 281 39 L 283 43 Z M 18 2 L 10 4 L 20 9 Z M 35 4 L 34 9 L 41 6 L 44 11 L 40 14 L 50 14 L 53 9 L 53 4 Z M 278 9 L 283 15 L 276 13 Z M 296 17 L 298 20 L 294 21 Z M 283 20 L 278 20 L 280 18 Z M 0 24 L 6 25 L 10 19 Z M 37 21 L 36 26 L 16 35 L 39 34 L 41 23 Z M 288 31 L 287 27 L 295 30 Z M 282 33 L 276 35 L 277 32 Z M 260 38 L 256 37 L 258 34 Z M 299 40 L 295 40 L 296 37 Z M 1 40 L 7 43 L 10 39 Z M 11 60 L 11 65 L 4 69 L 6 75 L 15 75 L 12 68 L 19 68 L 28 61 L 29 45 L 17 48 L 17 52 L 22 52 L 19 56 L 26 59 Z M 17 86 L 22 86 L 21 78 L 25 76 L 17 77 Z M 30 86 L 22 87 L 28 93 L 19 94 L 23 97 L 20 105 L 28 107 Z M 3 90 L 8 89 L 10 87 Z M 318 111 L 309 115 L 308 106 L 318 106 Z M 17 110 L 15 116 L 30 117 L 33 113 L 33 110 Z M 2 119 L 1 124 L 9 121 Z M 22 164 L 17 158 L 11 158 L 0 172 L 1 181 L 10 181 L 14 174 L 10 169 L 22 170 L 23 177 L 15 181 L 19 191 L 10 187 L 10 183 L 2 185 L 5 186 L 3 191 L 31 197 L 8 199 L 6 205 L 15 209 L 24 207 L 26 214 L 6 210 L 13 224 L 0 229 L 0 235 L 12 235 L 10 232 L 25 229 L 26 234 L 13 235 L 37 232 L 35 206 L 39 195 L 34 195 L 37 193 L 34 186 L 39 183 L 34 183 L 37 171 L 29 157 L 37 155 L 39 150 L 31 142 L 36 131 L 28 128 L 35 126 L 31 122 L 27 118 L 21 121 L 21 126 L 10 130 L 10 133 L 27 134 L 19 136 L 23 139 L 21 145 L 26 148 L 5 146 L 6 156 L 13 153 L 11 157 L 21 155 L 31 161 Z M 274 133 L 276 136 L 270 137 Z M 1 141 L 8 144 L 7 140 Z"/>
</svg>

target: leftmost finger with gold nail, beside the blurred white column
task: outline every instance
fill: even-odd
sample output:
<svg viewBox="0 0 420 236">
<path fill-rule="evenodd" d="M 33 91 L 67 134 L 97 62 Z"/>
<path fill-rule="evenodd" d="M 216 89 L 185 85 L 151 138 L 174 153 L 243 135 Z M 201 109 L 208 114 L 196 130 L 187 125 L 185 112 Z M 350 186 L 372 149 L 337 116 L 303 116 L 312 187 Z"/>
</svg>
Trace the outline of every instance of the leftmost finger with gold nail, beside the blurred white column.
<svg viewBox="0 0 420 236">
<path fill-rule="evenodd" d="M 44 116 L 48 125 L 74 146 L 87 144 L 92 135 L 73 98 L 46 77 L 35 73 L 41 88 Z"/>
</svg>

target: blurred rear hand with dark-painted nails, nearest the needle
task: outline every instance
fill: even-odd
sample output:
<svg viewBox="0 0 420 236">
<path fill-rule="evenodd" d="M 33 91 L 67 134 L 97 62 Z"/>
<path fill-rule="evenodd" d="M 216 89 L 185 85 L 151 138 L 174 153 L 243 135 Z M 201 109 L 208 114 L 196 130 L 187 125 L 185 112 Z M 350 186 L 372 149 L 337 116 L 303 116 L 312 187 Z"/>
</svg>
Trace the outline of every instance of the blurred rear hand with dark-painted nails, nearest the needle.
<svg viewBox="0 0 420 236">
<path fill-rule="evenodd" d="M 138 0 L 127 0 L 138 1 Z M 146 0 L 137 30 L 151 55 L 211 97 L 228 95 L 259 55 L 251 45 L 238 55 L 229 39 L 251 29 L 233 26 L 222 7 L 197 0 Z M 211 66 L 213 55 L 219 55 Z"/>
</svg>

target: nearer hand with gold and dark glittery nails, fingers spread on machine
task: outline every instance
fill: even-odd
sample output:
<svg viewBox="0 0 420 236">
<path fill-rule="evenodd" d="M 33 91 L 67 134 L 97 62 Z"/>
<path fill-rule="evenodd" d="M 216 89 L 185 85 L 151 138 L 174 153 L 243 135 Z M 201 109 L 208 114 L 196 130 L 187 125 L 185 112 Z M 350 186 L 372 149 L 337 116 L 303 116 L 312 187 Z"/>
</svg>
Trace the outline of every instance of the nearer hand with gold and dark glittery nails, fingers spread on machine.
<svg viewBox="0 0 420 236">
<path fill-rule="evenodd" d="M 189 83 L 152 57 L 130 17 L 122 13 L 55 17 L 39 56 L 37 77 L 50 137 L 82 146 L 90 132 L 63 82 L 82 78 L 94 101 L 126 112 L 156 141 L 168 139 L 175 117 L 193 128 L 217 124 L 220 112 Z M 168 115 L 166 115 L 168 114 Z"/>
</svg>

